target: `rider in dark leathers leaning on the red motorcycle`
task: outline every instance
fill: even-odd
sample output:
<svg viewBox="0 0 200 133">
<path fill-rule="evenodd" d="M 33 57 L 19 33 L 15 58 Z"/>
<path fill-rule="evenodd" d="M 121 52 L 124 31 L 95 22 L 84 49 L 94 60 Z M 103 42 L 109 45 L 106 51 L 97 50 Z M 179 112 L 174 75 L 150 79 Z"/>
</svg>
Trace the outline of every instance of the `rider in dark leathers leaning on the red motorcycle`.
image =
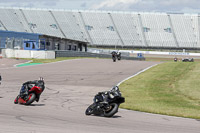
<svg viewBox="0 0 200 133">
<path fill-rule="evenodd" d="M 28 99 L 28 91 L 32 88 L 32 86 L 30 86 L 30 84 L 34 84 L 34 86 L 40 87 L 42 90 L 45 89 L 44 79 L 41 77 L 39 78 L 39 80 L 25 82 L 22 84 L 20 93 L 14 101 L 15 104 L 18 103 L 19 97 L 23 98 L 24 100 Z M 36 101 L 38 102 L 39 98 Z"/>
</svg>

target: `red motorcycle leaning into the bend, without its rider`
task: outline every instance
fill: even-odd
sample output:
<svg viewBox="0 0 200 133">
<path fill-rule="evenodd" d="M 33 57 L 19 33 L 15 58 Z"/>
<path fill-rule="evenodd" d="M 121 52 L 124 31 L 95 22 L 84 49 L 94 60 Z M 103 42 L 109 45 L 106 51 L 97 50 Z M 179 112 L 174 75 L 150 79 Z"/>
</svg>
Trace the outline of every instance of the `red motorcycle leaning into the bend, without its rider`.
<svg viewBox="0 0 200 133">
<path fill-rule="evenodd" d="M 17 104 L 23 104 L 23 105 L 30 105 L 34 101 L 39 101 L 40 95 L 44 91 L 44 89 L 38 87 L 38 86 L 32 86 L 32 85 L 27 85 L 29 88 L 28 91 L 28 97 L 24 98 L 23 95 L 19 95 L 15 98 L 14 103 Z"/>
</svg>

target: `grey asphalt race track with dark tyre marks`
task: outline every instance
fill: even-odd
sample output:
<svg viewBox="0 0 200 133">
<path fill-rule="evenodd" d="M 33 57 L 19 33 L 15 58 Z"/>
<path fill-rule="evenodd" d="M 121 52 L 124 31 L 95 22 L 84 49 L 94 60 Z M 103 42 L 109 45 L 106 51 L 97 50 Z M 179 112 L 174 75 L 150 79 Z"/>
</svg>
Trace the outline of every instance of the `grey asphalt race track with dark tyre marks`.
<svg viewBox="0 0 200 133">
<path fill-rule="evenodd" d="M 17 63 L 16 61 L 13 61 Z M 18 61 L 19 62 L 19 61 Z M 98 91 L 157 64 L 145 61 L 76 59 L 12 67 L 1 59 L 0 133 L 199 133 L 200 121 L 119 109 L 112 118 L 86 116 Z M 7 64 L 8 63 L 8 64 Z M 5 67 L 6 66 L 6 67 Z M 46 89 L 32 106 L 13 103 L 23 82 L 44 77 Z M 124 89 L 124 88 L 120 88 Z"/>
</svg>

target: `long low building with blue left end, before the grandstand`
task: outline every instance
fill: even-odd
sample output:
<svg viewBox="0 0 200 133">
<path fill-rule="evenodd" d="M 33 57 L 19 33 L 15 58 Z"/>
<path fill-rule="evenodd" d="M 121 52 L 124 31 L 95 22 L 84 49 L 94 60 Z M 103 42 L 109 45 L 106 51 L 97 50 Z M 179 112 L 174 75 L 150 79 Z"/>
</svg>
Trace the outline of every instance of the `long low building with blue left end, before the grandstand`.
<svg viewBox="0 0 200 133">
<path fill-rule="evenodd" d="M 87 51 L 87 43 L 37 33 L 0 31 L 1 48 Z"/>
</svg>

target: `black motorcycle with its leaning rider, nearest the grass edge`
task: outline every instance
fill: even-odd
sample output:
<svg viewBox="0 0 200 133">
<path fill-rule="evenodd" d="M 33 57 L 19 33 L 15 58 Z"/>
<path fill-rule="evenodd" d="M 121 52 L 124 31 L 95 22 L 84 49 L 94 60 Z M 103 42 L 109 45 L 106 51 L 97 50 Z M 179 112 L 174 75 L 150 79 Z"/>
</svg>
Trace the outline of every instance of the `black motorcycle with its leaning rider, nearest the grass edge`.
<svg viewBox="0 0 200 133">
<path fill-rule="evenodd" d="M 85 114 L 112 117 L 118 112 L 119 105 L 124 102 L 125 98 L 121 96 L 118 86 L 115 86 L 110 91 L 95 95 L 94 103 L 86 109 Z"/>
</svg>

